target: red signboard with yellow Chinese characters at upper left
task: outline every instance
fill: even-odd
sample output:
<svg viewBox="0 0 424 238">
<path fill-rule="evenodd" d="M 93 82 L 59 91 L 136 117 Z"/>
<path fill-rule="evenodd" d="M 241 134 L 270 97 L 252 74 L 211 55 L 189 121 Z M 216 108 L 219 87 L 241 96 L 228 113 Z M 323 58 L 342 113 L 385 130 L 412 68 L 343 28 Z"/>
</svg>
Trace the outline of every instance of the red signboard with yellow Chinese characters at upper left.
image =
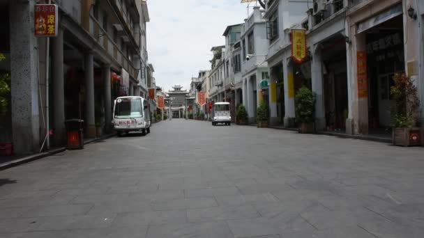
<svg viewBox="0 0 424 238">
<path fill-rule="evenodd" d="M 56 36 L 58 17 L 56 4 L 36 4 L 34 10 L 36 36 Z"/>
</svg>

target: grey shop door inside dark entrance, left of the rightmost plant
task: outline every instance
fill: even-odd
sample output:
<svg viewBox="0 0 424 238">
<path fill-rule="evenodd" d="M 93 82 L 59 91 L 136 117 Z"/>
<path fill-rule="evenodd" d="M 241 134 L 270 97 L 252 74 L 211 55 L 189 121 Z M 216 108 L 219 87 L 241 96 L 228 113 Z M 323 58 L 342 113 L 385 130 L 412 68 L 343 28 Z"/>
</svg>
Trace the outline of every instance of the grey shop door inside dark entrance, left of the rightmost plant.
<svg viewBox="0 0 424 238">
<path fill-rule="evenodd" d="M 390 88 L 393 85 L 393 74 L 379 76 L 379 121 L 380 125 L 388 127 L 391 124 L 391 100 Z"/>
</svg>

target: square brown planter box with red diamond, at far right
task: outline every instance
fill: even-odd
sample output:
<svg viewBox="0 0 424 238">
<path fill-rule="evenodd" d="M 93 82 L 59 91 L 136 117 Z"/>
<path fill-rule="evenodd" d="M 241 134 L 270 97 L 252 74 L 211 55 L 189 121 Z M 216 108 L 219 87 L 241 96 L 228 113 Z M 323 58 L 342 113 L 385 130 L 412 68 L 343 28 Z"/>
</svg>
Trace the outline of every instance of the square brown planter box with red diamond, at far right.
<svg viewBox="0 0 424 238">
<path fill-rule="evenodd" d="M 399 146 L 416 146 L 421 145 L 423 141 L 421 136 L 423 132 L 420 127 L 398 127 L 393 128 L 392 133 L 393 145 Z"/>
</svg>

